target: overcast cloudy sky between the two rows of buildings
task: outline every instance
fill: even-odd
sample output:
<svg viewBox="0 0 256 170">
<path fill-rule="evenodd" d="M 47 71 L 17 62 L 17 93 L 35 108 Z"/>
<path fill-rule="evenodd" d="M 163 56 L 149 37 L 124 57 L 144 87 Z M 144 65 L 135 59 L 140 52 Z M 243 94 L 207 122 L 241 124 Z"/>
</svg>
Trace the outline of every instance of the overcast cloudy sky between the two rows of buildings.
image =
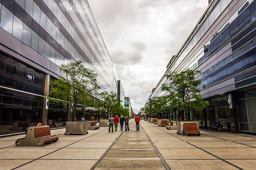
<svg viewBox="0 0 256 170">
<path fill-rule="evenodd" d="M 208 6 L 208 0 L 88 0 L 135 113 Z"/>
</svg>

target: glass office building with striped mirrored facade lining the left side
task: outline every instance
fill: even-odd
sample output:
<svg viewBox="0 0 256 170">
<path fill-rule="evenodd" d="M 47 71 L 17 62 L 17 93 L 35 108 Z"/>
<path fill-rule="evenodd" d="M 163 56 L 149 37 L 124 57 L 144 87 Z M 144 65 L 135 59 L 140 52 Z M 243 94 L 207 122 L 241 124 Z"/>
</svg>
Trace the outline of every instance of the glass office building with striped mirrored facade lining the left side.
<svg viewBox="0 0 256 170">
<path fill-rule="evenodd" d="M 0 35 L 0 134 L 19 132 L 15 122 L 71 121 L 68 104 L 46 100 L 47 82 L 64 76 L 61 64 L 82 61 L 99 75 L 100 91 L 117 93 L 117 71 L 86 0 L 0 0 Z"/>
</svg>

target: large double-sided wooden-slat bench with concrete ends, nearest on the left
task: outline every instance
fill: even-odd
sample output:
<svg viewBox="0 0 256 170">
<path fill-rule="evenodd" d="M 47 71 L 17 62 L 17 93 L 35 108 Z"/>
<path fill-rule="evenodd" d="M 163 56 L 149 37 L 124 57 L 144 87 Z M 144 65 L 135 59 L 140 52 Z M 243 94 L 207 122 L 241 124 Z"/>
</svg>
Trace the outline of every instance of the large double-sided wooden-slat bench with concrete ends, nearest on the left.
<svg viewBox="0 0 256 170">
<path fill-rule="evenodd" d="M 57 142 L 59 137 L 51 135 L 50 126 L 29 127 L 25 138 L 17 139 L 16 146 L 43 146 L 51 142 Z"/>
</svg>

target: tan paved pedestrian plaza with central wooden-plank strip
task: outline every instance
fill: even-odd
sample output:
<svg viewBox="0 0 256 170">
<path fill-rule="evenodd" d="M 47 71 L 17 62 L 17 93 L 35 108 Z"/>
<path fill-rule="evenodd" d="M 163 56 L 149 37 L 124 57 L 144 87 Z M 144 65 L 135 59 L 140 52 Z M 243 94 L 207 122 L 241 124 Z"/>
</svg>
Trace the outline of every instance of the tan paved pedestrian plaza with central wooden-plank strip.
<svg viewBox="0 0 256 170">
<path fill-rule="evenodd" d="M 17 147 L 25 135 L 0 138 L 0 169 L 256 169 L 256 137 L 201 128 L 201 136 L 181 136 L 141 120 L 129 131 L 108 133 L 108 127 L 88 134 L 66 135 L 51 130 L 55 143 Z"/>
</svg>

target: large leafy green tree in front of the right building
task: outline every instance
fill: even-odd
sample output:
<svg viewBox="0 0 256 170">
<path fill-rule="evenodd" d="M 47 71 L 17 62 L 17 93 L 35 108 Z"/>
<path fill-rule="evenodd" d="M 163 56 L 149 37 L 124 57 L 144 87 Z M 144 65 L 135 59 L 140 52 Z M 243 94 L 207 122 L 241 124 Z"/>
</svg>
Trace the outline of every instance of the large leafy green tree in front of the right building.
<svg viewBox="0 0 256 170">
<path fill-rule="evenodd" d="M 185 109 L 186 120 L 188 120 L 188 110 L 203 109 L 209 104 L 203 100 L 201 90 L 198 88 L 202 80 L 195 78 L 200 73 L 199 70 L 191 69 L 186 69 L 181 73 L 169 72 L 166 74 L 167 82 L 161 87 L 162 91 L 169 93 L 169 103 L 173 103 L 177 108 Z"/>
</svg>

